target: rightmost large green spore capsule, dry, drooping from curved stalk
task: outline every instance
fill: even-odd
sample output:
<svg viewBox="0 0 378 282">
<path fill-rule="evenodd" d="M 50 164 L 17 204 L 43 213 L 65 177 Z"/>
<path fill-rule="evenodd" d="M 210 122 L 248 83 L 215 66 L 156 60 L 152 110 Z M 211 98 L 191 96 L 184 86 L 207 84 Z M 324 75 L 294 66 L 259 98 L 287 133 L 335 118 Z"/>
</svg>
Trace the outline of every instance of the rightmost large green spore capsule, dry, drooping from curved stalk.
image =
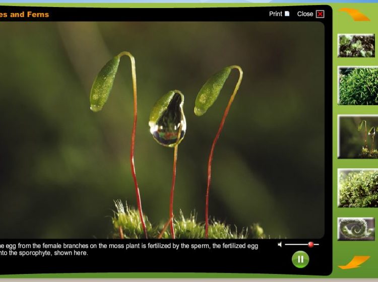
<svg viewBox="0 0 378 282">
<path fill-rule="evenodd" d="M 201 116 L 214 104 L 217 100 L 224 83 L 231 73 L 232 66 L 226 66 L 218 73 L 212 75 L 202 86 L 196 98 L 194 113 Z"/>
</svg>

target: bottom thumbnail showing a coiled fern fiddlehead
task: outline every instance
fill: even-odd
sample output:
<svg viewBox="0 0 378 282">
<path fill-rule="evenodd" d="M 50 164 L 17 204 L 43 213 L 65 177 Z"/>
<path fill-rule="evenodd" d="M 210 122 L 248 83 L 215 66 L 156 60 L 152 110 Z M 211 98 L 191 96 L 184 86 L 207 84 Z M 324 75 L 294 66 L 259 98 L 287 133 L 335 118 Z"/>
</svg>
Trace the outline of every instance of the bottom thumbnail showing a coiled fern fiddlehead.
<svg viewBox="0 0 378 282">
<path fill-rule="evenodd" d="M 338 218 L 338 241 L 375 241 L 374 218 Z"/>
</svg>

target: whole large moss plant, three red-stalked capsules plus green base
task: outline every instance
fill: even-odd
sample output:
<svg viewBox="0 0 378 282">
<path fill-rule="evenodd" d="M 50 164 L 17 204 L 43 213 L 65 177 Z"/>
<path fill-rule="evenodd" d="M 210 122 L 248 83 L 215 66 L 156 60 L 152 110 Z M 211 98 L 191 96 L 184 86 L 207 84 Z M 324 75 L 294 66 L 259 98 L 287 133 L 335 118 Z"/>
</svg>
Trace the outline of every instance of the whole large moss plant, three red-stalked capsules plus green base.
<svg viewBox="0 0 378 282">
<path fill-rule="evenodd" d="M 231 70 L 238 70 L 238 81 L 224 111 L 218 131 L 215 135 L 210 150 L 205 201 L 205 225 L 197 223 L 196 216 L 191 215 L 189 219 L 185 219 L 181 211 L 179 218 L 175 218 L 173 215 L 173 196 L 176 180 L 177 151 L 178 145 L 180 144 L 186 133 L 186 120 L 183 111 L 184 95 L 179 90 L 169 91 L 168 93 L 163 95 L 153 106 L 149 118 L 150 132 L 158 144 L 174 149 L 168 221 L 164 226 L 153 228 L 147 217 L 143 215 L 140 190 L 135 172 L 134 149 L 137 126 L 137 78 L 135 59 L 130 52 L 124 51 L 119 53 L 102 67 L 97 77 L 95 78 L 91 89 L 90 109 L 94 112 L 98 112 L 106 103 L 114 83 L 120 58 L 122 56 L 128 56 L 130 58 L 132 68 L 134 122 L 131 135 L 130 165 L 135 185 L 138 213 L 136 213 L 133 209 L 130 209 L 128 206 L 126 206 L 125 210 L 121 201 L 115 201 L 117 212 L 114 212 L 114 217 L 112 219 L 113 227 L 117 234 L 115 237 L 141 238 L 143 235 L 143 237 L 145 238 L 246 238 L 247 236 L 249 236 L 250 238 L 264 238 L 265 235 L 263 229 L 258 224 L 253 224 L 250 226 L 249 234 L 247 228 L 242 229 L 240 233 L 233 233 L 230 231 L 229 226 L 216 221 L 214 221 L 212 225 L 209 226 L 209 190 L 211 182 L 211 164 L 213 160 L 214 149 L 243 77 L 241 67 L 238 65 L 231 65 L 221 69 L 206 81 L 196 98 L 194 113 L 197 116 L 201 116 L 206 113 L 206 111 L 218 98 L 218 95 L 222 90 L 226 80 L 228 79 Z M 138 225 L 136 225 L 137 218 L 139 218 L 140 222 L 140 224 Z M 166 231 L 168 225 L 170 226 L 169 232 Z"/>
</svg>

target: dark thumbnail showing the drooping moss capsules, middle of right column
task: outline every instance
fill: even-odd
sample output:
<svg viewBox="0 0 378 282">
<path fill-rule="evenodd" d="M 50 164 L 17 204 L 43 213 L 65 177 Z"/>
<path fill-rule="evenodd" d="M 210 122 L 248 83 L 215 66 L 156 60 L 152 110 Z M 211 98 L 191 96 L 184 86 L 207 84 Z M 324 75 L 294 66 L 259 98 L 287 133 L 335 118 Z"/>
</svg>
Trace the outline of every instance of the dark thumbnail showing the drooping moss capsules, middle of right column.
<svg viewBox="0 0 378 282">
<path fill-rule="evenodd" d="M 377 159 L 376 130 L 378 130 L 378 115 L 339 115 L 338 157 Z"/>
</svg>

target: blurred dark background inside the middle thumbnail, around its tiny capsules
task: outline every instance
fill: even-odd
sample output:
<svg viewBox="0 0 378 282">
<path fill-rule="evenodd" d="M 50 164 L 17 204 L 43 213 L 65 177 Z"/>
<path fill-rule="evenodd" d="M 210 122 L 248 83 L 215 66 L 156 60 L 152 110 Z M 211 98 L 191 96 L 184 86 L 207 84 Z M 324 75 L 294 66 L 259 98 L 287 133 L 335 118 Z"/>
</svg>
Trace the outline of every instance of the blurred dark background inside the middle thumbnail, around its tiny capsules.
<svg viewBox="0 0 378 282">
<path fill-rule="evenodd" d="M 362 147 L 365 146 L 365 123 L 358 131 L 362 120 L 366 120 L 367 132 L 371 127 L 377 128 L 377 116 L 340 116 L 339 117 L 339 158 L 360 159 Z M 378 135 L 374 137 L 374 149 L 378 149 Z M 372 138 L 366 134 L 367 147 L 371 150 Z"/>
</svg>

